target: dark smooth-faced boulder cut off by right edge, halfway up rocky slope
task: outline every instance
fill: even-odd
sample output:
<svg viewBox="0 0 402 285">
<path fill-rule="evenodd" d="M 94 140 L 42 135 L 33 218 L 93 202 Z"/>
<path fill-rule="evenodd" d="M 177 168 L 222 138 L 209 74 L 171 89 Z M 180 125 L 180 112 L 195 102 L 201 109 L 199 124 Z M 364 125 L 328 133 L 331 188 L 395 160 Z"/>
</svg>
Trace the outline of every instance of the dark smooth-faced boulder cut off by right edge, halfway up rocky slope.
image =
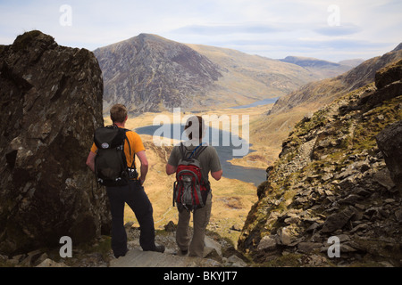
<svg viewBox="0 0 402 285">
<path fill-rule="evenodd" d="M 402 120 L 384 128 L 376 136 L 377 144 L 389 169 L 390 177 L 402 193 Z"/>
</svg>

